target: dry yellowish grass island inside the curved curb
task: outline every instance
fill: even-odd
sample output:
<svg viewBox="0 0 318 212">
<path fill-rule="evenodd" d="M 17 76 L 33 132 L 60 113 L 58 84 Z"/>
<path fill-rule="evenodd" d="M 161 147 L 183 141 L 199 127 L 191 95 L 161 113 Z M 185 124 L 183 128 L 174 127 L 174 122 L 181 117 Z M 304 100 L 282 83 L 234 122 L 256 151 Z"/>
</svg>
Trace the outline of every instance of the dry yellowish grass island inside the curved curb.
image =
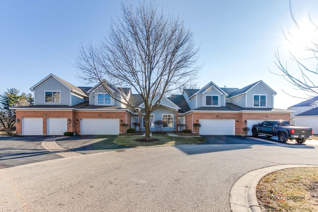
<svg viewBox="0 0 318 212">
<path fill-rule="evenodd" d="M 271 199 L 280 194 L 286 201 Z M 301 200 L 291 200 L 292 196 Z M 267 174 L 256 187 L 256 197 L 263 212 L 318 211 L 318 168 L 287 168 Z"/>
</svg>

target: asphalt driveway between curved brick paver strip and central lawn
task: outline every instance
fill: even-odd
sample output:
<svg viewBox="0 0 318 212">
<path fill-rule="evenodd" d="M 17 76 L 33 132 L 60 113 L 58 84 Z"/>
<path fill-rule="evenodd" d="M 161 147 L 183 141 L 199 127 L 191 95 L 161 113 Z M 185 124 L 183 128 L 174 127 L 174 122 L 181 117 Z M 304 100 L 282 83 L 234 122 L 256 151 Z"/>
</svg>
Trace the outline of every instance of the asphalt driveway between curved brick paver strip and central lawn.
<svg viewBox="0 0 318 212">
<path fill-rule="evenodd" d="M 110 152 L 118 149 L 128 149 L 113 143 L 114 135 L 77 135 L 56 140 L 61 147 L 82 154 Z"/>
</svg>

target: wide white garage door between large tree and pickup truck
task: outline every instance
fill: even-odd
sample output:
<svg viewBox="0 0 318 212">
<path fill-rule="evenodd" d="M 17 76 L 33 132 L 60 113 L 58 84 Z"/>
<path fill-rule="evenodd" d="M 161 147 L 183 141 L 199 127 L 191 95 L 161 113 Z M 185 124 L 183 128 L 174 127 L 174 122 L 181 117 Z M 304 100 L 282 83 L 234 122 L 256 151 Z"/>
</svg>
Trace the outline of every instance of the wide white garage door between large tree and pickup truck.
<svg viewBox="0 0 318 212">
<path fill-rule="evenodd" d="M 200 119 L 201 135 L 235 135 L 234 119 Z"/>
</svg>

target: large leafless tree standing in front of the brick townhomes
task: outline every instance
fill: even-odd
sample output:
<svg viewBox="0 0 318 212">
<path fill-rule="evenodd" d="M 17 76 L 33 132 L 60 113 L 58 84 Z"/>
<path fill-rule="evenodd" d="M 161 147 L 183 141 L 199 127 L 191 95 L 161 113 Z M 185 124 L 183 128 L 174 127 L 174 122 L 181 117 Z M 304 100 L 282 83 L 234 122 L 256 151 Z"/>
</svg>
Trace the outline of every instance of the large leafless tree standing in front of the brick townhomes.
<svg viewBox="0 0 318 212">
<path fill-rule="evenodd" d="M 122 96 L 126 98 L 122 104 L 139 109 L 148 139 L 150 113 L 162 96 L 196 79 L 201 69 L 197 65 L 199 48 L 183 21 L 165 15 L 163 10 L 158 12 L 153 2 L 139 3 L 135 9 L 131 4 L 121 6 L 122 14 L 112 20 L 108 37 L 99 45 L 82 45 L 74 66 L 79 79 L 100 82 L 112 98 Z M 129 102 L 123 87 L 132 87 L 140 94 L 144 107 Z"/>
</svg>

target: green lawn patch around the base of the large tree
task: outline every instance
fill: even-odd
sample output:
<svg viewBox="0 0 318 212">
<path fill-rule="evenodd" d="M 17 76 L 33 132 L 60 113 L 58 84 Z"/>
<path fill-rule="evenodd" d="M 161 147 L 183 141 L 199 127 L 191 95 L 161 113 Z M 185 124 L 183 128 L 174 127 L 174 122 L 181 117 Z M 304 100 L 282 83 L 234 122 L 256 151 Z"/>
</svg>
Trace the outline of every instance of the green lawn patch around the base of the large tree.
<svg viewBox="0 0 318 212">
<path fill-rule="evenodd" d="M 206 141 L 203 137 L 175 137 L 166 133 L 152 133 L 150 138 L 159 139 L 155 142 L 138 142 L 135 139 L 143 138 L 142 136 L 118 136 L 113 143 L 126 147 L 151 147 L 151 146 L 168 146 L 180 144 L 200 144 Z"/>
</svg>

